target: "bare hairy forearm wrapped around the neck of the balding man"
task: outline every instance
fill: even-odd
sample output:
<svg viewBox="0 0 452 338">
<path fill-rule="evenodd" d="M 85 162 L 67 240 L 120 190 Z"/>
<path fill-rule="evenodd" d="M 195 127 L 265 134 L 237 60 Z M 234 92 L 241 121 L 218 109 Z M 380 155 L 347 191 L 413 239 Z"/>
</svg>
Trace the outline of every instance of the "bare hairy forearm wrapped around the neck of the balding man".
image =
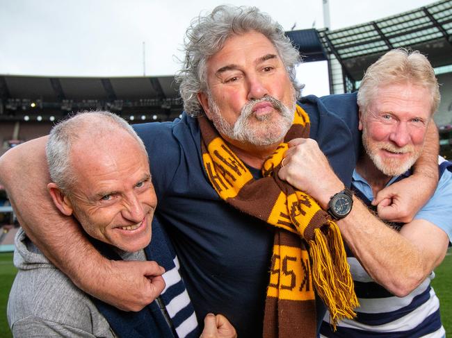
<svg viewBox="0 0 452 338">
<path fill-rule="evenodd" d="M 82 265 L 101 260 L 72 217 L 55 208 L 47 193 L 47 137 L 17 146 L 0 158 L 0 180 L 20 225 L 51 262 L 79 285 Z M 90 257 L 90 259 L 88 259 Z M 80 285 L 79 285 L 80 286 Z"/>
</svg>

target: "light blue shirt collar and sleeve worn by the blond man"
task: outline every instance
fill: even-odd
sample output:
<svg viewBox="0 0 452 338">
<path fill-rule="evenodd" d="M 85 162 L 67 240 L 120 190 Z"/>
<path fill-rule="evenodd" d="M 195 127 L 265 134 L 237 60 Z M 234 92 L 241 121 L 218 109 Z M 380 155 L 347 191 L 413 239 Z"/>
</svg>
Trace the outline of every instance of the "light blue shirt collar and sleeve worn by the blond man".
<svg viewBox="0 0 452 338">
<path fill-rule="evenodd" d="M 439 162 L 443 162 L 440 158 Z M 410 171 L 401 176 L 410 176 Z M 398 176 L 391 178 L 386 186 L 392 185 Z M 373 200 L 372 188 L 367 181 L 353 171 L 353 185 L 359 189 L 366 198 Z M 414 216 L 414 219 L 425 219 L 430 223 L 435 224 L 438 228 L 444 230 L 449 236 L 449 241 L 452 241 L 452 173 L 445 170 L 439 178 L 435 194 L 428 200 L 426 205 Z"/>
</svg>

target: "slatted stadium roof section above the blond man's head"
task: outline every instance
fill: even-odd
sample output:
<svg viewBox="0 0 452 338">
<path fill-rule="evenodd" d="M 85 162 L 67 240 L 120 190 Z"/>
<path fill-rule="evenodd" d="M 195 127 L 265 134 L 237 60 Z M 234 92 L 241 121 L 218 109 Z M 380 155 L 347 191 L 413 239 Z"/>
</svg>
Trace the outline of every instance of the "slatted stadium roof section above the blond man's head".
<svg viewBox="0 0 452 338">
<path fill-rule="evenodd" d="M 306 29 L 286 34 L 306 62 L 333 54 L 355 81 L 361 80 L 364 69 L 382 54 L 397 47 L 421 51 L 433 67 L 451 65 L 452 0 L 334 31 Z"/>
</svg>

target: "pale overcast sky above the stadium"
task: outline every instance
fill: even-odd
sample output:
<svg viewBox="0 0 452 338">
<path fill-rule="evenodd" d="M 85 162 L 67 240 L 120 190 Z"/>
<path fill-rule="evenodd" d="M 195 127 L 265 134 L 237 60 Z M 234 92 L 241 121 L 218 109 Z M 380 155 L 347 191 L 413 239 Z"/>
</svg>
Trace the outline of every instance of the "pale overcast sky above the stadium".
<svg viewBox="0 0 452 338">
<path fill-rule="evenodd" d="M 0 0 L 0 74 L 165 76 L 179 69 L 186 28 L 228 3 L 257 6 L 284 30 L 323 28 L 323 0 Z M 328 0 L 330 29 L 405 12 L 429 0 Z M 144 48 L 143 48 L 144 47 Z M 325 62 L 298 69 L 303 94 L 328 94 Z"/>
</svg>

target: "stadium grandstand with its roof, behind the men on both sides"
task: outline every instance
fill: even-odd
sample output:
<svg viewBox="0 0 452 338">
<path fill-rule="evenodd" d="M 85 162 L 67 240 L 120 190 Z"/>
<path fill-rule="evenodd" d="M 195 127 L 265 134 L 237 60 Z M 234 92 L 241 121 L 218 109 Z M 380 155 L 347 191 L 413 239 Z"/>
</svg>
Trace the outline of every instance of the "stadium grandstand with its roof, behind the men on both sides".
<svg viewBox="0 0 452 338">
<path fill-rule="evenodd" d="M 328 62 L 330 92 L 353 92 L 364 69 L 396 47 L 417 49 L 435 67 L 442 101 L 435 115 L 442 153 L 452 156 L 452 0 L 330 31 L 289 31 L 305 62 Z M 110 110 L 131 123 L 179 117 L 174 76 L 75 78 L 0 75 L 0 155 L 46 135 L 55 121 L 80 110 Z"/>
</svg>

